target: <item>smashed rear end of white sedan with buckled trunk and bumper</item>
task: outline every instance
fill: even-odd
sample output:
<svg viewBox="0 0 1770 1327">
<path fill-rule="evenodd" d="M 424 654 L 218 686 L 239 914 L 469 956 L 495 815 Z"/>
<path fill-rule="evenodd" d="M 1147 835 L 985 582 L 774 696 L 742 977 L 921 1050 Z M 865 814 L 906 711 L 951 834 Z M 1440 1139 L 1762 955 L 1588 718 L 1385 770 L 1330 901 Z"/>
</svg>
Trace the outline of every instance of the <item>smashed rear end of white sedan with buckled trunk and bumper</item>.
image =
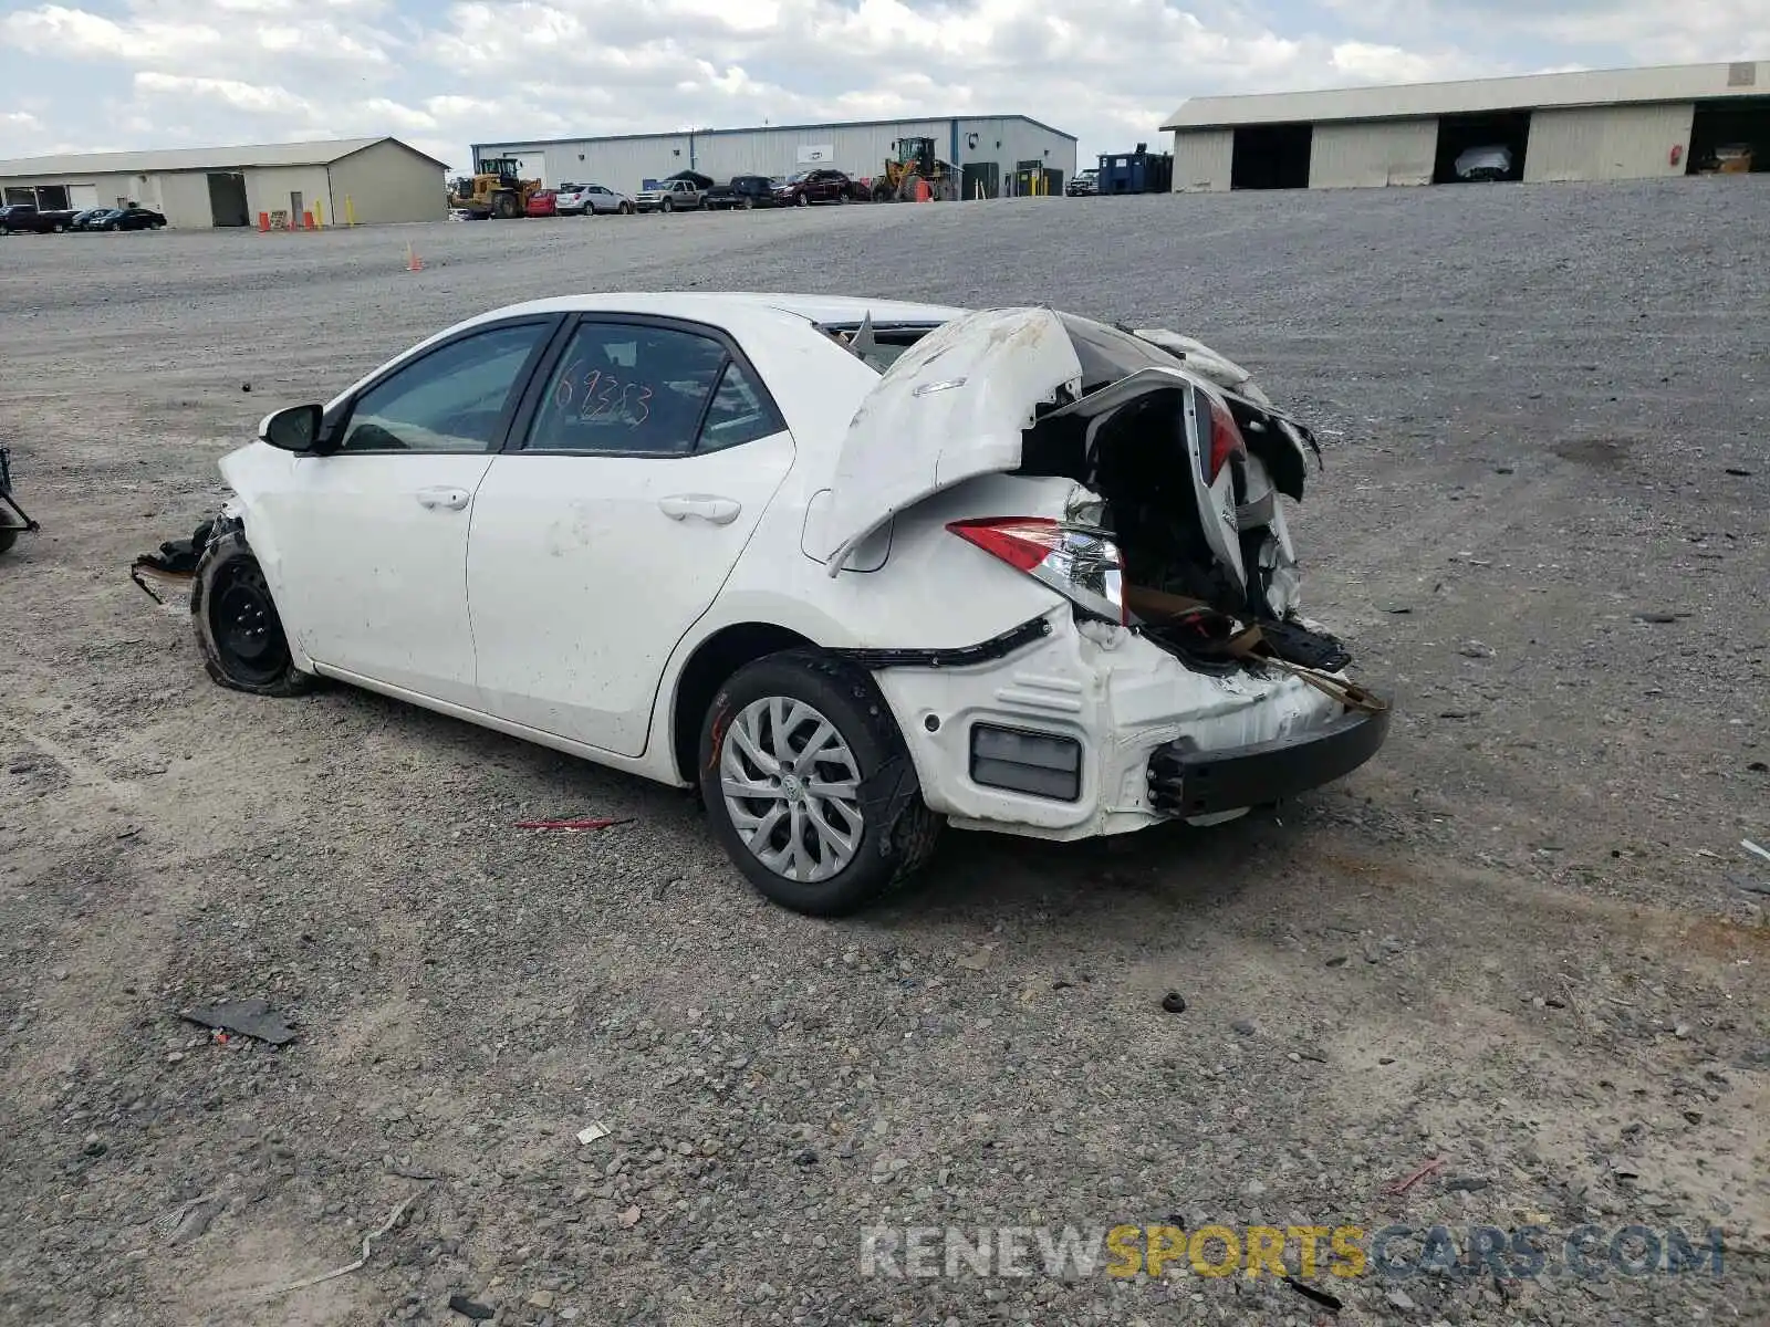
<svg viewBox="0 0 1770 1327">
<path fill-rule="evenodd" d="M 1301 501 L 1319 448 L 1237 364 L 1046 308 L 827 331 L 883 366 L 837 460 L 830 575 L 894 522 L 927 529 L 931 504 L 981 577 L 935 593 L 1050 591 L 970 653 L 850 651 L 949 823 L 1214 823 L 1377 752 L 1389 706 L 1303 616 L 1280 501 Z"/>
</svg>

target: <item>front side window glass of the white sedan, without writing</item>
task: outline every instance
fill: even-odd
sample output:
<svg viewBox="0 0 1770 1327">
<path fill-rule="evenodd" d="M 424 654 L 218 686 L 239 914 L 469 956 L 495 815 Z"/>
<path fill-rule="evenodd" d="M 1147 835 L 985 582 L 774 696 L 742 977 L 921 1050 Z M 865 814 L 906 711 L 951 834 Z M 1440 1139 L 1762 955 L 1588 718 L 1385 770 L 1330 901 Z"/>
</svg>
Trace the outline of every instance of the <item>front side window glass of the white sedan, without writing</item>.
<svg viewBox="0 0 1770 1327">
<path fill-rule="evenodd" d="M 545 322 L 494 327 L 396 370 L 358 398 L 340 451 L 492 451 L 547 333 Z"/>
</svg>

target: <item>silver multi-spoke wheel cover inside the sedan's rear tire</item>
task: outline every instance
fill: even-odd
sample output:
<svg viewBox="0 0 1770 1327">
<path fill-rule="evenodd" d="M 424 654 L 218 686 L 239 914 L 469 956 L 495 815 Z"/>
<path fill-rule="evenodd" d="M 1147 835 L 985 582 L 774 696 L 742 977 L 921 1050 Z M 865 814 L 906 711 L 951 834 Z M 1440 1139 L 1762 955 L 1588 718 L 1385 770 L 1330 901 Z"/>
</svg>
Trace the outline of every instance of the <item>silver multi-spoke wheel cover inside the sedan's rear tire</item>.
<svg viewBox="0 0 1770 1327">
<path fill-rule="evenodd" d="M 743 846 L 773 874 L 825 881 L 860 846 L 860 766 L 818 710 L 786 695 L 747 704 L 719 757 L 726 812 Z"/>
</svg>

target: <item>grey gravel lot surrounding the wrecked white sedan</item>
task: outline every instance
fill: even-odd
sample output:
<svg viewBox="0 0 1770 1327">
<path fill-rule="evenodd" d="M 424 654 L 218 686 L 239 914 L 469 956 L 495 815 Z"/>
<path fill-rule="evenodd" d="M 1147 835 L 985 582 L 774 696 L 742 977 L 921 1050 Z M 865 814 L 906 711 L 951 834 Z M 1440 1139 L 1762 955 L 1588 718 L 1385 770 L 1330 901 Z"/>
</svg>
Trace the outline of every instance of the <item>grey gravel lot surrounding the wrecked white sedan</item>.
<svg viewBox="0 0 1770 1327">
<path fill-rule="evenodd" d="M 0 1320 L 1765 1322 L 1766 184 L 0 242 L 44 525 L 0 559 Z M 949 835 L 818 924 L 681 794 L 223 692 L 129 584 L 273 405 L 492 304 L 660 285 L 1202 334 L 1324 430 L 1306 591 L 1398 695 L 1389 747 L 1280 817 Z M 573 814 L 634 823 L 512 826 Z M 223 996 L 299 1039 L 177 1019 Z M 1212 1221 L 1722 1226 L 1726 1263 L 1317 1270 L 1338 1311 L 1184 1262 L 860 1276 L 871 1224 Z"/>
</svg>

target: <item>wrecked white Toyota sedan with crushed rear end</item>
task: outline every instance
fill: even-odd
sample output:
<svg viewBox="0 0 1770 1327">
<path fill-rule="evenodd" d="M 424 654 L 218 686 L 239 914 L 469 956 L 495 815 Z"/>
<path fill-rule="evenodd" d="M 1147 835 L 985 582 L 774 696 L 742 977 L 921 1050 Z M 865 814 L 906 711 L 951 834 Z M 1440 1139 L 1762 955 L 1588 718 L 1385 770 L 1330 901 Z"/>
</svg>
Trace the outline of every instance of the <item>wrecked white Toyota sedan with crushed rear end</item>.
<svg viewBox="0 0 1770 1327">
<path fill-rule="evenodd" d="M 1216 823 L 1370 759 L 1301 614 L 1308 430 L 1165 329 L 604 294 L 264 419 L 191 594 L 216 681 L 335 678 L 697 787 L 788 908 L 942 825 Z"/>
</svg>

